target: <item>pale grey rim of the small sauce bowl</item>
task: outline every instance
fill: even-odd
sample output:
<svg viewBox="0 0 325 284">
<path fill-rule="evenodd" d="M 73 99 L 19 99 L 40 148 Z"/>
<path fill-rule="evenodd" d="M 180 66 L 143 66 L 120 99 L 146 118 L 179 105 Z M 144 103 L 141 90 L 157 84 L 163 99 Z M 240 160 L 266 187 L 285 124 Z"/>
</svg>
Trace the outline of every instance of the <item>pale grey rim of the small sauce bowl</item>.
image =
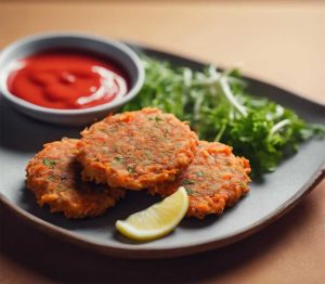
<svg viewBox="0 0 325 284">
<path fill-rule="evenodd" d="M 63 33 L 41 33 L 41 34 L 36 34 L 31 36 L 27 36 L 24 38 L 21 38 L 9 46 L 6 46 L 1 52 L 0 52 L 0 62 L 3 61 L 8 56 L 8 54 L 13 50 L 16 49 L 21 46 L 25 46 L 29 42 L 37 42 L 40 40 L 44 39 L 52 39 L 52 40 L 57 40 L 60 38 L 76 38 L 76 39 L 87 39 L 91 41 L 100 41 L 104 44 L 112 46 L 118 50 L 120 50 L 122 53 L 127 54 L 128 57 L 134 63 L 135 68 L 138 70 L 138 78 L 132 86 L 132 88 L 127 92 L 127 94 L 118 101 L 113 101 L 109 102 L 109 104 L 101 104 L 92 107 L 87 107 L 87 108 L 77 108 L 77 109 L 60 109 L 60 108 L 51 108 L 51 107 L 44 107 L 40 105 L 32 104 L 28 101 L 25 101 L 23 99 L 20 99 L 18 96 L 12 94 L 8 90 L 8 82 L 4 80 L 8 78 L 8 76 L 4 76 L 4 78 L 0 78 L 0 93 L 9 100 L 11 103 L 18 105 L 23 108 L 28 108 L 31 109 L 32 112 L 41 113 L 41 114 L 52 114 L 52 115 L 67 115 L 67 116 L 73 116 L 73 115 L 82 115 L 82 114 L 91 114 L 91 113 L 100 113 L 103 111 L 109 111 L 117 108 L 130 100 L 132 100 L 141 90 L 143 83 L 144 83 L 144 77 L 145 77 L 145 72 L 144 72 L 144 66 L 138 56 L 138 54 L 129 48 L 127 44 L 112 39 L 112 38 L 106 38 L 103 36 L 98 36 L 98 35 L 92 35 L 92 34 L 87 34 L 87 33 L 78 33 L 78 31 L 63 31 Z M 86 49 L 87 50 L 87 49 Z M 34 53 L 31 53 L 34 54 Z M 128 70 L 127 70 L 128 72 Z"/>
</svg>

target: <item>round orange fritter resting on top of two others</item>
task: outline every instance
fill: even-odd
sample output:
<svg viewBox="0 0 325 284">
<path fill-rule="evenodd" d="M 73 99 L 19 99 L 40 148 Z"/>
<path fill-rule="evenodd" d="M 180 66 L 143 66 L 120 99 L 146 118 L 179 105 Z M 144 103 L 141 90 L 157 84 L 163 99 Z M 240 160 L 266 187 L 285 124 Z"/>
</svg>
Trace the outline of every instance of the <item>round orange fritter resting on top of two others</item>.
<svg viewBox="0 0 325 284">
<path fill-rule="evenodd" d="M 197 145 L 187 124 L 157 108 L 108 116 L 81 134 L 82 178 L 131 190 L 173 180 Z"/>
</svg>

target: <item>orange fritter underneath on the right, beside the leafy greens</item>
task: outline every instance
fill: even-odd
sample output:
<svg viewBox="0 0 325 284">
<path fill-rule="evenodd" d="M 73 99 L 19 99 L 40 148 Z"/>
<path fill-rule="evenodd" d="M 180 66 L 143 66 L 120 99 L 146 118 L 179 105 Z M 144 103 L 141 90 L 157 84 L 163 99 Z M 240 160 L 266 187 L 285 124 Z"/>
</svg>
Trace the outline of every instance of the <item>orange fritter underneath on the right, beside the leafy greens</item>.
<svg viewBox="0 0 325 284">
<path fill-rule="evenodd" d="M 188 194 L 188 217 L 198 219 L 210 214 L 220 215 L 249 191 L 249 162 L 232 154 L 232 147 L 222 143 L 200 141 L 191 165 L 170 183 L 150 190 L 162 196 L 184 186 Z"/>
</svg>

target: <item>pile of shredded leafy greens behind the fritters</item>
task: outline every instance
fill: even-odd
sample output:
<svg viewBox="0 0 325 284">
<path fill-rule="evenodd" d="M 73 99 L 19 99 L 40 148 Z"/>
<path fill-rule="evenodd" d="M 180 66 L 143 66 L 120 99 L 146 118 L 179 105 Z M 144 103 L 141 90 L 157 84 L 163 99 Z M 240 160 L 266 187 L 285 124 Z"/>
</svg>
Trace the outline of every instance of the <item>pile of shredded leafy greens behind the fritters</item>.
<svg viewBox="0 0 325 284">
<path fill-rule="evenodd" d="M 324 126 L 309 125 L 291 109 L 249 94 L 238 70 L 193 70 L 146 56 L 143 63 L 144 87 L 123 111 L 155 106 L 190 121 L 200 139 L 230 144 L 247 157 L 252 176 L 273 171 L 299 142 L 325 133 Z"/>
</svg>

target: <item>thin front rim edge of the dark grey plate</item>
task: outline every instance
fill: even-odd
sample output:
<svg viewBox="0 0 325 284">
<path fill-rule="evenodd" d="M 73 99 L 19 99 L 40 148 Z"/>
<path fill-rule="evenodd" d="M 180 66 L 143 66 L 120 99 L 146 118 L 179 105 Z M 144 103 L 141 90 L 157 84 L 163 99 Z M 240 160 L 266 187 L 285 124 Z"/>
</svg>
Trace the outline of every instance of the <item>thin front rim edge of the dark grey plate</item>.
<svg viewBox="0 0 325 284">
<path fill-rule="evenodd" d="M 307 196 L 323 179 L 325 178 L 325 165 L 322 165 L 317 171 L 310 178 L 310 180 L 290 198 L 287 203 L 280 206 L 273 214 L 264 217 L 260 221 L 252 223 L 250 227 L 242 229 L 232 236 L 226 237 L 222 241 L 211 241 L 204 244 L 193 245 L 193 246 L 184 246 L 179 248 L 168 248 L 168 249 L 159 249 L 159 248 L 114 248 L 104 246 L 101 244 L 94 244 L 87 238 L 75 235 L 74 233 L 68 232 L 65 229 L 58 228 L 54 224 L 51 224 L 27 211 L 20 208 L 17 205 L 9 201 L 2 193 L 0 193 L 0 202 L 3 204 L 11 212 L 13 212 L 17 218 L 26 220 L 34 228 L 39 231 L 50 235 L 56 236 L 61 241 L 65 241 L 68 243 L 73 243 L 79 245 L 83 248 L 89 248 L 94 251 L 109 255 L 112 257 L 117 258 L 128 258 L 128 259 L 158 259 L 158 258 L 171 258 L 171 257 L 181 257 L 188 256 L 194 254 L 204 253 L 211 249 L 217 249 L 223 246 L 231 245 L 236 243 L 253 233 L 257 233 L 261 229 L 268 227 L 273 223 L 290 209 L 292 209 L 304 196 Z"/>
</svg>

